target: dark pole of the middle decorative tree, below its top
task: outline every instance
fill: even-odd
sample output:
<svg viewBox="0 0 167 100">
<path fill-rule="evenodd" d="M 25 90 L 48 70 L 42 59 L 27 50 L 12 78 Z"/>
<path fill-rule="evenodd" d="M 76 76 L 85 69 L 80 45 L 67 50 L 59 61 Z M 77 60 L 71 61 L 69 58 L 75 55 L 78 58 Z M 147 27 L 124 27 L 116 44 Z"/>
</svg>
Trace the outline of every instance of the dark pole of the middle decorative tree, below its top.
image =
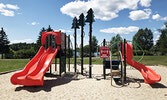
<svg viewBox="0 0 167 100">
<path fill-rule="evenodd" d="M 83 75 L 83 31 L 84 26 L 81 26 L 81 74 Z"/>
</svg>

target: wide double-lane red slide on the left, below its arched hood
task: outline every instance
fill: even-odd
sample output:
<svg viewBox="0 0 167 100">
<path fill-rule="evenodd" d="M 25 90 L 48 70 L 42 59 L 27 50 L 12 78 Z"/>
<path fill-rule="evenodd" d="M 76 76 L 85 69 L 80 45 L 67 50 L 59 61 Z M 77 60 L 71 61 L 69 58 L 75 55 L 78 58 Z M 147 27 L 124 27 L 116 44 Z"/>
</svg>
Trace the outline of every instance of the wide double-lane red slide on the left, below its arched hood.
<svg viewBox="0 0 167 100">
<path fill-rule="evenodd" d="M 56 56 L 59 47 L 47 50 L 42 46 L 37 55 L 26 65 L 23 71 L 15 73 L 11 77 L 11 83 L 14 85 L 37 86 L 43 85 L 44 74 L 50 67 L 52 60 Z"/>
</svg>

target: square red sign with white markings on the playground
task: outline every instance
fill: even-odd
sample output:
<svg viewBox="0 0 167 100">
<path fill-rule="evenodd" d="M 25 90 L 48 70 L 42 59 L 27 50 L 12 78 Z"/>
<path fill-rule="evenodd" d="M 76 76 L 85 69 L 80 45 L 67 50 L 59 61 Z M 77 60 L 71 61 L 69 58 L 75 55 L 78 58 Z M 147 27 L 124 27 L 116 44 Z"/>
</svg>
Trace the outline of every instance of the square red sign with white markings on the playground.
<svg viewBox="0 0 167 100">
<path fill-rule="evenodd" d="M 100 58 L 109 58 L 110 48 L 109 47 L 100 47 Z"/>
</svg>

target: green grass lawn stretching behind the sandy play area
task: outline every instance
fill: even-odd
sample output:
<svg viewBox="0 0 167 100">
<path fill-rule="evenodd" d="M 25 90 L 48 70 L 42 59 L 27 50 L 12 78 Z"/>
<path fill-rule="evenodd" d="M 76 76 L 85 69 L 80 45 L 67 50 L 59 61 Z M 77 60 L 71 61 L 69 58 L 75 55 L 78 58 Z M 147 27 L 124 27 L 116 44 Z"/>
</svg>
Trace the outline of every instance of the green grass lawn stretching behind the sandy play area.
<svg viewBox="0 0 167 100">
<path fill-rule="evenodd" d="M 140 58 L 140 56 L 135 57 L 135 59 L 138 58 Z M 117 57 L 113 57 L 113 59 L 117 59 Z M 29 61 L 29 59 L 0 59 L 0 72 L 24 68 Z M 68 63 L 68 60 L 66 62 Z M 99 57 L 92 58 L 92 64 L 102 64 L 102 62 L 103 59 Z M 54 61 L 52 63 L 54 63 Z M 59 59 L 57 59 L 57 63 L 59 63 Z M 73 58 L 70 59 L 70 63 L 74 63 Z M 77 63 L 81 63 L 81 58 L 77 58 Z M 167 56 L 144 56 L 141 63 L 144 65 L 167 66 Z M 89 57 L 84 58 L 84 64 L 89 64 Z"/>
</svg>

